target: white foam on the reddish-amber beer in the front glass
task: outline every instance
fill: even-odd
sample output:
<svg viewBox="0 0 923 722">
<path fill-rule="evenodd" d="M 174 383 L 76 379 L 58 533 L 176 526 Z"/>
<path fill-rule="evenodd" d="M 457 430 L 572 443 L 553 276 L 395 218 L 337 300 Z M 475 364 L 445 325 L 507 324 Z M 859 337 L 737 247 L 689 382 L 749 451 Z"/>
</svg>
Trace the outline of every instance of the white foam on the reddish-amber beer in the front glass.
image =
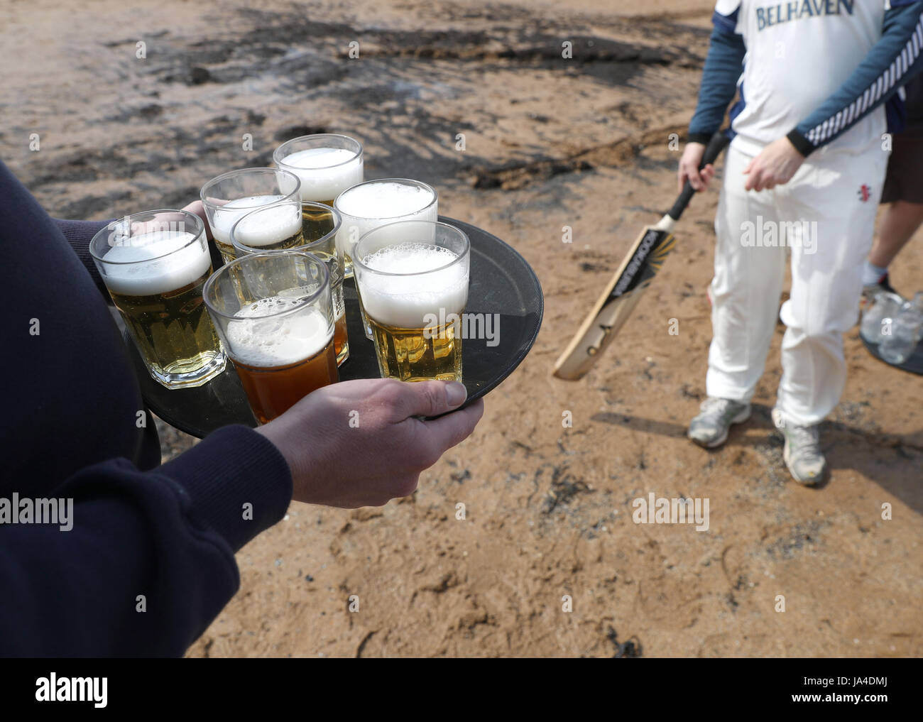
<svg viewBox="0 0 923 722">
<path fill-rule="evenodd" d="M 333 327 L 316 307 L 273 316 L 296 308 L 301 300 L 282 295 L 261 298 L 241 308 L 228 321 L 228 353 L 247 366 L 292 366 L 318 355 L 333 338 Z"/>
</svg>

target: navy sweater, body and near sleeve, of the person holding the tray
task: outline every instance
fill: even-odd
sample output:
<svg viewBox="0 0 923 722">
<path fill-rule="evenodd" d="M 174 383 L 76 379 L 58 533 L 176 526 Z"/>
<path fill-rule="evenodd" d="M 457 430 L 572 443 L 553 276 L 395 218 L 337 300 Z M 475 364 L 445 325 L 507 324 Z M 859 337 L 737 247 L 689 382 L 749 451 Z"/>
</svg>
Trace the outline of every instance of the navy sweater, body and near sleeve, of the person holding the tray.
<svg viewBox="0 0 923 722">
<path fill-rule="evenodd" d="M 55 223 L 0 162 L 0 656 L 182 655 L 234 595 L 234 551 L 292 498 L 282 454 L 247 427 L 160 465 L 74 247 L 91 230 Z M 22 516 L 34 499 L 70 499 L 70 528 Z"/>
</svg>

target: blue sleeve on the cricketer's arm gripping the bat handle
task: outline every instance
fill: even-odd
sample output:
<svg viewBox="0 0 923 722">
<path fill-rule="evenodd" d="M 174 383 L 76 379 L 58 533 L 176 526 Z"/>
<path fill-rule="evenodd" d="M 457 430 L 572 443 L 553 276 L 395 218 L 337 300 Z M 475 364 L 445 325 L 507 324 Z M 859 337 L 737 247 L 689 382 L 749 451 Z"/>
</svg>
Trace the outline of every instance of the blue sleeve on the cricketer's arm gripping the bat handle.
<svg viewBox="0 0 923 722">
<path fill-rule="evenodd" d="M 727 106 L 737 92 L 737 79 L 743 72 L 747 49 L 735 31 L 737 11 L 733 17 L 715 13 L 714 29 L 701 74 L 699 103 L 689 122 L 689 141 L 708 143 L 725 119 Z"/>
</svg>

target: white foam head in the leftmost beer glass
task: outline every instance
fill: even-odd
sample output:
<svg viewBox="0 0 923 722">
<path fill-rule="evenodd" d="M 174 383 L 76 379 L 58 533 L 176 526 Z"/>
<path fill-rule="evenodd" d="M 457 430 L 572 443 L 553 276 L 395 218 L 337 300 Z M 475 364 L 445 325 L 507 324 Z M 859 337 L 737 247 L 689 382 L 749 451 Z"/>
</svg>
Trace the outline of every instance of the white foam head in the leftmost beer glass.
<svg viewBox="0 0 923 722">
<path fill-rule="evenodd" d="M 154 295 L 193 283 L 211 265 L 208 247 L 192 243 L 195 237 L 183 231 L 151 231 L 126 239 L 103 257 L 106 287 L 115 294 Z"/>
</svg>

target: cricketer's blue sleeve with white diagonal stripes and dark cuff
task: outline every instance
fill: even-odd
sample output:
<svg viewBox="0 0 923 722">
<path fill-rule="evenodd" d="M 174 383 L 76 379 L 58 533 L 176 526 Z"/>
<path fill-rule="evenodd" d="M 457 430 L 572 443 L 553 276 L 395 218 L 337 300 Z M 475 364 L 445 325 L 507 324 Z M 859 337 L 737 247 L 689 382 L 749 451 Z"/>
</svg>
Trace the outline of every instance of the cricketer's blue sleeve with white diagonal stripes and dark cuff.
<svg viewBox="0 0 923 722">
<path fill-rule="evenodd" d="M 923 68 L 921 13 L 923 2 L 892 0 L 884 14 L 881 40 L 839 90 L 788 133 L 802 155 L 843 135 Z"/>
</svg>

